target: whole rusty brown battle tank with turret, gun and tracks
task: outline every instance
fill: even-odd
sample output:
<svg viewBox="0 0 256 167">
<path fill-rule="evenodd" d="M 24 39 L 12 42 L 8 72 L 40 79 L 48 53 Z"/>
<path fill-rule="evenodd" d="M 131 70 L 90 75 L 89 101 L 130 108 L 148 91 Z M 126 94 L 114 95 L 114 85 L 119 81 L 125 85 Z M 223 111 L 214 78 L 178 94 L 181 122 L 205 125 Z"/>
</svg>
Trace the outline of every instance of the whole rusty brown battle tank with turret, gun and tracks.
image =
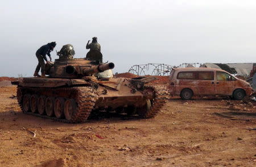
<svg viewBox="0 0 256 167">
<path fill-rule="evenodd" d="M 166 102 L 164 87 L 148 85 L 154 77 L 113 77 L 113 62 L 102 63 L 101 56 L 99 60 L 92 56 L 74 59 L 70 44 L 57 55 L 59 59 L 46 64 L 48 77 L 13 82 L 18 85 L 17 99 L 25 114 L 64 123 L 85 122 L 99 112 L 152 118 Z"/>
</svg>

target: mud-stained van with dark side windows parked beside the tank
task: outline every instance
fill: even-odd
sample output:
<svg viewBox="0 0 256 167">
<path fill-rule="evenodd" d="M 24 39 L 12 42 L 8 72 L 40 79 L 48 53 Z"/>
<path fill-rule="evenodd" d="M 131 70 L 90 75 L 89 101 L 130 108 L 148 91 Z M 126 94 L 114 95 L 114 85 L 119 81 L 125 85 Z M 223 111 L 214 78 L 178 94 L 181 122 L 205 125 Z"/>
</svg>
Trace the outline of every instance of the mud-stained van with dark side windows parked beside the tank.
<svg viewBox="0 0 256 167">
<path fill-rule="evenodd" d="M 252 87 L 232 74 L 214 68 L 174 68 L 170 73 L 170 93 L 182 99 L 193 95 L 225 95 L 243 99 Z"/>
</svg>

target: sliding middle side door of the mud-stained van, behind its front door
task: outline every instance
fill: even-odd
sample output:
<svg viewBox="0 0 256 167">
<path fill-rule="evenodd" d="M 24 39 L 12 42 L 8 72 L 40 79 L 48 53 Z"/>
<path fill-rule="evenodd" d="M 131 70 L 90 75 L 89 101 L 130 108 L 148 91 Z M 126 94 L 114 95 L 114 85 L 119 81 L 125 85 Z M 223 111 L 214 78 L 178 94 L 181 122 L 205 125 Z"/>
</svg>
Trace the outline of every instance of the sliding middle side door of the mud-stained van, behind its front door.
<svg viewBox="0 0 256 167">
<path fill-rule="evenodd" d="M 214 72 L 197 72 L 197 87 L 199 95 L 215 95 Z"/>
</svg>

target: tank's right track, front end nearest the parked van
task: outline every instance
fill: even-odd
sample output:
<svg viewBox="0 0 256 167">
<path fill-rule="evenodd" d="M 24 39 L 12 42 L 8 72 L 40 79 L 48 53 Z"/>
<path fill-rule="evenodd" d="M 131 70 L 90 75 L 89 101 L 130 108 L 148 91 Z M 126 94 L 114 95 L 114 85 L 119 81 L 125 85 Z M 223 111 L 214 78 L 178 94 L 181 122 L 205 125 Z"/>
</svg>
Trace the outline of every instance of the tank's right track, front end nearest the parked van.
<svg viewBox="0 0 256 167">
<path fill-rule="evenodd" d="M 146 85 L 145 90 L 151 90 L 154 93 L 154 99 L 151 102 L 151 108 L 144 113 L 143 118 L 153 118 L 166 103 L 169 95 L 166 87 L 160 85 Z"/>
</svg>

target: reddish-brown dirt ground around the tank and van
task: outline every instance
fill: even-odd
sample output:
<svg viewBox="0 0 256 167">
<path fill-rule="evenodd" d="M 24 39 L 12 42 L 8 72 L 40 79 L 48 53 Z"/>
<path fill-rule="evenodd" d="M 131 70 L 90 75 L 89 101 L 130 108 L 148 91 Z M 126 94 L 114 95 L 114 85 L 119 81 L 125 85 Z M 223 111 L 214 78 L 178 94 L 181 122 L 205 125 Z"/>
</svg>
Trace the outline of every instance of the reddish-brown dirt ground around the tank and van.
<svg viewBox="0 0 256 167">
<path fill-rule="evenodd" d="M 256 166 L 256 103 L 173 98 L 153 119 L 64 124 L 22 114 L 15 94 L 0 87 L 0 166 Z"/>
</svg>

